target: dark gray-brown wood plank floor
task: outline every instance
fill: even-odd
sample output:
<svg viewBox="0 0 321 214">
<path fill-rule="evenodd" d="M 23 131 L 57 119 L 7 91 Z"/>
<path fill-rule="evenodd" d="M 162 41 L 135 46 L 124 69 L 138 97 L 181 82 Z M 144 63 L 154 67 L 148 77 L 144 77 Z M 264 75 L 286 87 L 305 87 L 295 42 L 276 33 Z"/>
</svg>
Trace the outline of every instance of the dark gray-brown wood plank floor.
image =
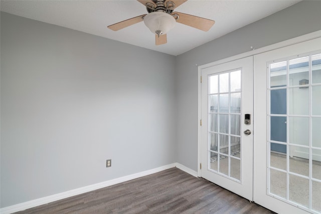
<svg viewBox="0 0 321 214">
<path fill-rule="evenodd" d="M 178 168 L 16 213 L 273 213 Z"/>
</svg>

